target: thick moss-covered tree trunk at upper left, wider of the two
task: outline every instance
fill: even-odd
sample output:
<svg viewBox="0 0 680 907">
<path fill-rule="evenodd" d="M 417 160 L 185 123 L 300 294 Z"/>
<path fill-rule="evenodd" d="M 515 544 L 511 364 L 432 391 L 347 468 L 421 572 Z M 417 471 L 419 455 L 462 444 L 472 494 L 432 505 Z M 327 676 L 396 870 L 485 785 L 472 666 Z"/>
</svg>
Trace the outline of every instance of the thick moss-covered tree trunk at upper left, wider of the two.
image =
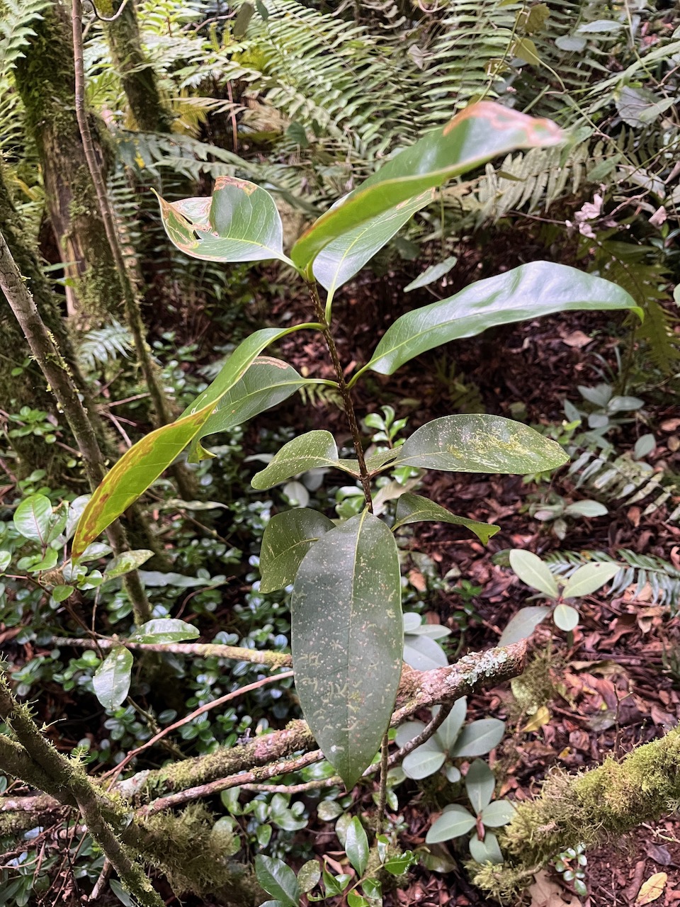
<svg viewBox="0 0 680 907">
<path fill-rule="evenodd" d="M 15 83 L 43 169 L 47 208 L 68 278 L 70 315 L 97 326 L 122 318 L 121 283 L 83 151 L 73 104 L 69 13 L 53 3 L 16 62 Z M 100 136 L 103 134 L 99 133 Z M 104 155 L 99 149 L 102 165 Z"/>
</svg>

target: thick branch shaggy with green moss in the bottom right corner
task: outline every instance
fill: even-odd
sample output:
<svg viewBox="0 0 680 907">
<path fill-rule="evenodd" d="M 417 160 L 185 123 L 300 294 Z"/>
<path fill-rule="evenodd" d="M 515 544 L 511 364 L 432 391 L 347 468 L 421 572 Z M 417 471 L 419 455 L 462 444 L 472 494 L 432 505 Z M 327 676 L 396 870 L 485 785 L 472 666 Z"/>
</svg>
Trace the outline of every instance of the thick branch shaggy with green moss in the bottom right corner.
<svg viewBox="0 0 680 907">
<path fill-rule="evenodd" d="M 540 866 L 583 843 L 588 847 L 618 839 L 641 822 L 675 812 L 680 800 L 680 728 L 637 746 L 617 762 L 569 776 L 549 775 L 541 795 L 518 805 L 499 835 L 508 863 L 487 866 L 473 882 L 494 897 L 511 901 Z"/>
</svg>

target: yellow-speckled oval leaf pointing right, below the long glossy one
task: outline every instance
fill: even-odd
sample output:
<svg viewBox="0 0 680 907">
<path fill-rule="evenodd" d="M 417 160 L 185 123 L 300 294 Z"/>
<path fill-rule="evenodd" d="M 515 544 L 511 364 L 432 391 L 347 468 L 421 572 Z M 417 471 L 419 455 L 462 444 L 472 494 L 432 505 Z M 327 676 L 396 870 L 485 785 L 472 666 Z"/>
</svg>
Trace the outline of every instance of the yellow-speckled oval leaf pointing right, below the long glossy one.
<svg viewBox="0 0 680 907">
<path fill-rule="evenodd" d="M 445 415 L 413 432 L 393 466 L 445 473 L 542 473 L 568 462 L 555 441 L 500 415 Z"/>
</svg>

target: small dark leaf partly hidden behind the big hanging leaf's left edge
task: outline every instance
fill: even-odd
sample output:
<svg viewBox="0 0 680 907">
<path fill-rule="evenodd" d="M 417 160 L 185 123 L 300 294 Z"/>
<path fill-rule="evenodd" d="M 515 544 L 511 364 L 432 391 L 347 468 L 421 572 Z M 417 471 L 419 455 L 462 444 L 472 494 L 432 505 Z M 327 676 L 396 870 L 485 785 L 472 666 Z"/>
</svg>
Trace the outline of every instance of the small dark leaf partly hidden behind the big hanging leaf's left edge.
<svg viewBox="0 0 680 907">
<path fill-rule="evenodd" d="M 273 516 L 262 536 L 260 592 L 274 592 L 289 586 L 295 580 L 306 552 L 333 528 L 334 523 L 323 513 L 306 507 Z"/>
</svg>

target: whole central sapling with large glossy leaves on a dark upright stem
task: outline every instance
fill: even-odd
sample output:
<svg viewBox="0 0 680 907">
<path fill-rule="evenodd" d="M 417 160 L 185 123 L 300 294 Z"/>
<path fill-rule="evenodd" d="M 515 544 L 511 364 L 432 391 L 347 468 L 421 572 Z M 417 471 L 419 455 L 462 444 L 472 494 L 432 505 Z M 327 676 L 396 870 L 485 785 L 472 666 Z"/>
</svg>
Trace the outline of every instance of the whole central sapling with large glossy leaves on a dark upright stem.
<svg viewBox="0 0 680 907">
<path fill-rule="evenodd" d="M 442 520 L 470 529 L 482 541 L 494 531 L 405 488 L 390 526 L 374 513 L 374 480 L 402 467 L 539 473 L 568 459 L 559 444 L 528 426 L 481 414 L 434 419 L 403 444 L 366 456 L 355 415 L 355 384 L 369 371 L 393 375 L 415 356 L 487 327 L 573 309 L 636 307 L 625 290 L 607 280 L 552 262 L 531 262 L 397 318 L 369 361 L 345 375 L 335 345 L 335 296 L 414 213 L 432 201 L 444 182 L 499 154 L 555 145 L 562 138 L 552 122 L 495 103 L 472 104 L 386 161 L 316 219 L 289 252 L 283 248 L 275 200 L 248 180 L 219 177 L 209 198 L 160 199 L 165 229 L 179 249 L 225 263 L 281 262 L 301 279 L 310 317 L 291 327 L 257 330 L 234 350 L 212 384 L 178 420 L 152 432 L 121 457 L 83 513 L 73 540 L 73 560 L 82 558 L 99 533 L 185 448 L 190 462 L 208 457 L 202 442 L 210 434 L 256 416 L 303 385 L 320 383 L 260 354 L 296 331 L 322 336 L 335 379 L 321 383 L 342 398 L 355 458 L 340 458 L 330 432 L 306 432 L 285 444 L 253 476 L 252 486 L 265 491 L 318 467 L 345 473 L 361 484 L 361 512 L 348 519 L 332 521 L 306 507 L 279 513 L 267 525 L 260 557 L 263 589 L 293 587 L 296 691 L 316 741 L 347 787 L 372 764 L 381 745 L 382 765 L 387 766 L 385 732 L 403 664 L 400 566 L 393 532 L 406 523 Z M 384 797 L 379 811 L 383 806 Z"/>
</svg>

